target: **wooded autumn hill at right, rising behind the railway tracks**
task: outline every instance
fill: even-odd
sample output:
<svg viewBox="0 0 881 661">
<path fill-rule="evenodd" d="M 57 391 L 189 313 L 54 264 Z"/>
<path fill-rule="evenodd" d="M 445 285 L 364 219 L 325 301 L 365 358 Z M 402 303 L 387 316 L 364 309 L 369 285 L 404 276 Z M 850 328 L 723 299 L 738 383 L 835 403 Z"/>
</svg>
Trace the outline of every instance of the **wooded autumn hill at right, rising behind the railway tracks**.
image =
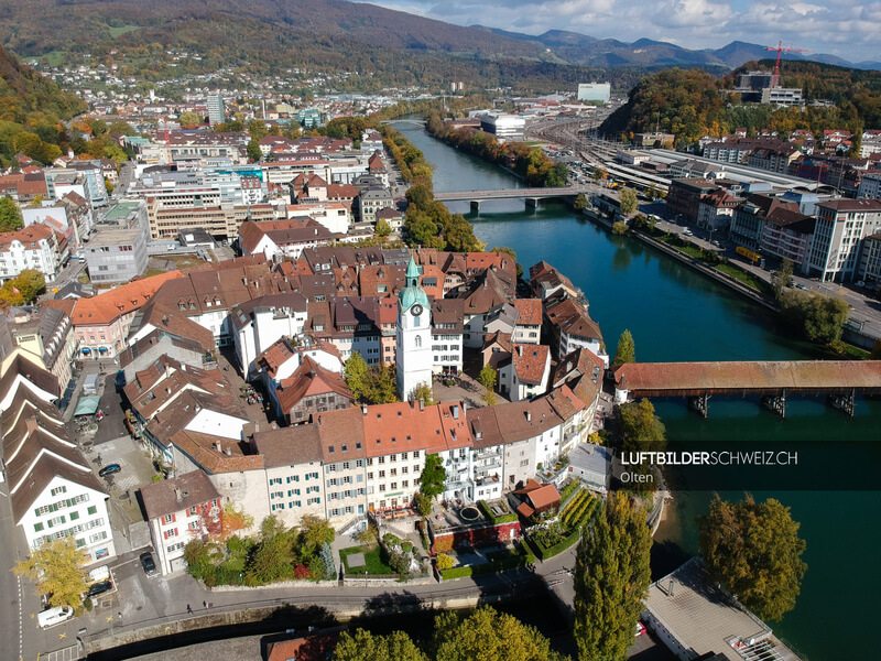
<svg viewBox="0 0 881 661">
<path fill-rule="evenodd" d="M 654 130 L 676 136 L 679 144 L 700 136 L 724 136 L 738 127 L 750 131 L 772 129 L 787 132 L 807 129 L 814 133 L 839 128 L 861 133 L 881 128 L 881 73 L 849 69 L 813 62 L 783 66 L 782 85 L 804 86 L 808 99 L 830 99 L 837 108 L 775 109 L 737 102 L 729 90 L 740 71 L 771 68 L 773 61 L 750 62 L 718 79 L 698 69 L 666 69 L 646 76 L 630 91 L 627 104 L 600 127 L 609 137 Z"/>
</svg>

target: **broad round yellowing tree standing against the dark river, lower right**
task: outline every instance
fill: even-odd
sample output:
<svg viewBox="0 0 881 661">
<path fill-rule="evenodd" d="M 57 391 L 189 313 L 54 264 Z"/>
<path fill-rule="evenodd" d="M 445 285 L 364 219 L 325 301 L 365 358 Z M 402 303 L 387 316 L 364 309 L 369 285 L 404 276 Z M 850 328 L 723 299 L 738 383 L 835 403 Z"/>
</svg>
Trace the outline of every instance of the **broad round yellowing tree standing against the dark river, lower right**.
<svg viewBox="0 0 881 661">
<path fill-rule="evenodd" d="M 697 522 L 700 556 L 715 581 L 763 619 L 795 607 L 807 565 L 790 508 L 773 498 L 757 503 L 747 495 L 732 503 L 716 496 Z"/>
</svg>

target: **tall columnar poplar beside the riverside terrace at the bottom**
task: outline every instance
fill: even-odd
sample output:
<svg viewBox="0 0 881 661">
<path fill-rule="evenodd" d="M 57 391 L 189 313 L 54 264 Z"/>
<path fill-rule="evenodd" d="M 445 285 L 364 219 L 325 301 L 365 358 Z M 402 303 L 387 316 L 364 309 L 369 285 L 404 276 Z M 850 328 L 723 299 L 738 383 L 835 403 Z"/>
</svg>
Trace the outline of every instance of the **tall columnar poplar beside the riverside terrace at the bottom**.
<svg viewBox="0 0 881 661">
<path fill-rule="evenodd" d="M 651 584 L 651 546 L 642 507 L 621 492 L 609 495 L 576 552 L 574 633 L 579 661 L 627 659 Z"/>
</svg>

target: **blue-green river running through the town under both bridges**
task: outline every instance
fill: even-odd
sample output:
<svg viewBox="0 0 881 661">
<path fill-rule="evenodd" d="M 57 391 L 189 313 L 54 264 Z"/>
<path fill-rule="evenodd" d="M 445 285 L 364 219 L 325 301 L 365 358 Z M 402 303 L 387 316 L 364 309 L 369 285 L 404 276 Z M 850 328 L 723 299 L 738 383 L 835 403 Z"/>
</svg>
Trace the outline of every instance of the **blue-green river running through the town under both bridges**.
<svg viewBox="0 0 881 661">
<path fill-rule="evenodd" d="M 395 124 L 435 166 L 436 191 L 518 187 L 500 169 L 431 138 L 413 123 Z M 721 285 L 629 237 L 613 236 L 578 218 L 562 204 L 526 210 L 521 201 L 482 203 L 471 214 L 467 203 L 450 204 L 466 214 L 488 247 L 507 246 L 530 266 L 546 260 L 585 292 L 590 315 L 601 328 L 609 351 L 629 328 L 641 361 L 785 360 L 816 357 L 815 349 L 792 338 L 774 317 Z M 848 470 L 836 442 L 869 442 L 861 455 L 881 468 L 881 402 L 858 400 L 849 419 L 822 401 L 790 399 L 786 420 L 753 401 L 710 400 L 703 420 L 676 402 L 656 409 L 672 442 L 760 442 L 786 447 L 795 442 L 823 443 L 828 448 L 825 472 L 812 472 L 804 489 L 819 489 L 830 472 Z M 866 472 L 862 472 L 864 477 Z M 839 483 L 841 480 L 838 480 Z M 794 610 L 774 631 L 811 661 L 881 658 L 868 636 L 874 627 L 874 596 L 881 592 L 878 549 L 881 532 L 881 480 L 860 490 L 755 491 L 757 499 L 777 498 L 792 508 L 807 542 L 808 565 Z M 742 494 L 724 492 L 738 498 Z M 652 570 L 660 577 L 697 551 L 695 517 L 707 511 L 711 494 L 677 491 L 670 516 L 655 535 Z"/>
</svg>

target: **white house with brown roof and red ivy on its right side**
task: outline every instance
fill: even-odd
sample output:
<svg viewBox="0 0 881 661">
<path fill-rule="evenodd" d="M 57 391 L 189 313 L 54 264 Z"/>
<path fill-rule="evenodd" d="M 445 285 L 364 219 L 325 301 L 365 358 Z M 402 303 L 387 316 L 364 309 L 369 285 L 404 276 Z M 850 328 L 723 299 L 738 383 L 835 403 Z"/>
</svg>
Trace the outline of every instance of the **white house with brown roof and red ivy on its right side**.
<svg viewBox="0 0 881 661">
<path fill-rule="evenodd" d="M 141 501 L 163 575 L 186 568 L 189 541 L 221 532 L 222 498 L 203 470 L 141 487 Z"/>
</svg>

